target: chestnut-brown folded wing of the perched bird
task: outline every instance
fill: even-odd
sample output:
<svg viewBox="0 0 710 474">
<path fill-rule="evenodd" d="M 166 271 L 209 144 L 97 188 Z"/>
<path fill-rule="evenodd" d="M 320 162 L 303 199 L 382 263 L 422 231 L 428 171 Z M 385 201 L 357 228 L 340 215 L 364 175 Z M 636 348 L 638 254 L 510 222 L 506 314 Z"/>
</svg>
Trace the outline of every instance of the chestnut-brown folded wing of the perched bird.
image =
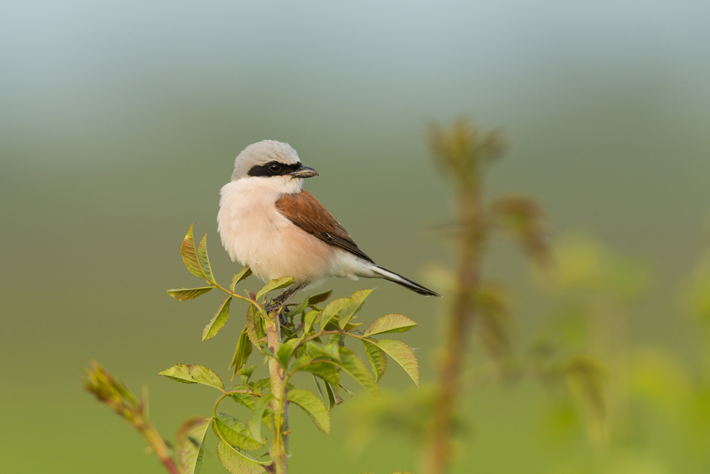
<svg viewBox="0 0 710 474">
<path fill-rule="evenodd" d="M 372 262 L 335 217 L 314 198 L 311 193 L 301 190 L 298 194 L 285 194 L 276 201 L 276 209 L 284 217 L 323 242 L 340 247 L 361 259 Z M 374 262 L 373 262 L 374 263 Z"/>
</svg>

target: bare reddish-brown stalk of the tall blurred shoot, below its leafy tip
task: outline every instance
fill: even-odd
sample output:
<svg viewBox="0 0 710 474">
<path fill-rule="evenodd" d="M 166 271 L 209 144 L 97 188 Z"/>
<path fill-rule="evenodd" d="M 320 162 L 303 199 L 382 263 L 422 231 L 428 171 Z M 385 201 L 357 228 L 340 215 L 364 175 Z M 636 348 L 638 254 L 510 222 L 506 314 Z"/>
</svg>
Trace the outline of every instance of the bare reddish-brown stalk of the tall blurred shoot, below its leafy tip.
<svg viewBox="0 0 710 474">
<path fill-rule="evenodd" d="M 444 333 L 444 350 L 439 361 L 439 378 L 430 426 L 429 451 L 425 459 L 428 474 L 444 474 L 452 457 L 454 409 L 459 392 L 459 374 L 466 350 L 466 340 L 474 317 L 473 296 L 479 286 L 479 260 L 484 226 L 481 216 L 481 193 L 477 173 L 458 196 L 457 214 L 461 232 L 458 236 L 457 288 Z"/>
</svg>

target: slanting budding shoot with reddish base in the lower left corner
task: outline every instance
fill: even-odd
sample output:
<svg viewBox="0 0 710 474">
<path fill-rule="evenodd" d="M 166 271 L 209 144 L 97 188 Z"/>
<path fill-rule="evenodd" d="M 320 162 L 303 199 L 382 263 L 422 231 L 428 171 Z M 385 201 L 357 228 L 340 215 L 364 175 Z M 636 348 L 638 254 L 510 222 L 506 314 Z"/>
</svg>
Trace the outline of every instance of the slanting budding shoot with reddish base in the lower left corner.
<svg viewBox="0 0 710 474">
<path fill-rule="evenodd" d="M 138 402 L 138 399 L 124 384 L 114 379 L 96 362 L 92 362 L 91 370 L 87 369 L 85 372 L 84 388 L 94 394 L 99 402 L 107 404 L 116 414 L 126 419 L 138 433 L 141 433 L 141 436 L 148 441 L 151 451 L 160 458 L 160 462 L 170 474 L 180 474 L 175 461 L 170 456 L 170 448 L 165 443 L 163 436 L 158 433 L 158 429 L 155 429 L 148 419 L 147 394 L 144 394 L 141 402 Z"/>
</svg>

